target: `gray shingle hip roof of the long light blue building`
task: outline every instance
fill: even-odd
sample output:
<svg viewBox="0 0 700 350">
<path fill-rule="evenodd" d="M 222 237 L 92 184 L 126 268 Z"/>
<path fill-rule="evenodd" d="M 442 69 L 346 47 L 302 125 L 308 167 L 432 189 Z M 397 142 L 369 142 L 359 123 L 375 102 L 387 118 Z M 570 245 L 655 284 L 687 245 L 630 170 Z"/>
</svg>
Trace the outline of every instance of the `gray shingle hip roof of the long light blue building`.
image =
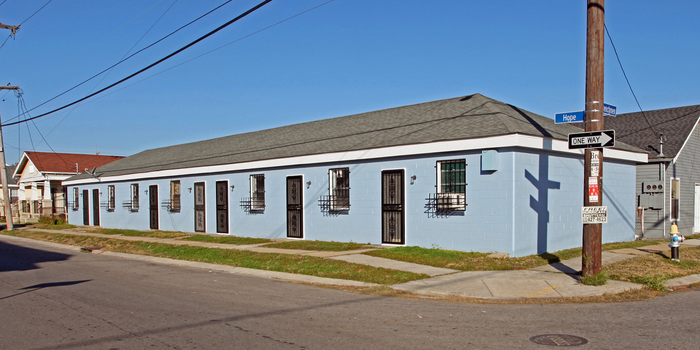
<svg viewBox="0 0 700 350">
<path fill-rule="evenodd" d="M 155 148 L 97 168 L 98 176 L 215 166 L 513 133 L 567 140 L 581 130 L 481 94 Z M 643 152 L 619 144 L 617 148 Z M 90 177 L 80 174 L 69 180 Z"/>
</svg>

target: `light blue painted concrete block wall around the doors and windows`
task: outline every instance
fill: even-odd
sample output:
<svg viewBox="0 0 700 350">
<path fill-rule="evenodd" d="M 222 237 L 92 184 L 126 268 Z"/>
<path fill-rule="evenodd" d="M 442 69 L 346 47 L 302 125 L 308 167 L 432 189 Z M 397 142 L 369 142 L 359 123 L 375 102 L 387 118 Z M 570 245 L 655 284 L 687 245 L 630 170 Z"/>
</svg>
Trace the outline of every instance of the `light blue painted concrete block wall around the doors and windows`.
<svg viewBox="0 0 700 350">
<path fill-rule="evenodd" d="M 481 170 L 481 151 L 430 154 L 362 162 L 326 163 L 311 166 L 252 169 L 232 173 L 188 175 L 174 178 L 124 182 L 101 182 L 77 186 L 97 188 L 106 201 L 107 186 L 115 185 L 116 209 L 100 208 L 100 224 L 105 228 L 149 228 L 148 194 L 158 185 L 159 228 L 165 231 L 193 232 L 194 183 L 205 183 L 207 233 L 216 233 L 216 181 L 228 181 L 229 234 L 257 237 L 286 237 L 286 177 L 302 175 L 304 239 L 381 244 L 381 171 L 402 169 L 405 176 L 405 243 L 408 246 L 440 247 L 461 251 L 499 251 L 525 256 L 580 247 L 582 225 L 580 207 L 583 191 L 582 157 L 554 152 L 508 148 L 498 150 L 498 170 Z M 429 194 L 436 192 L 437 161 L 465 159 L 466 210 L 436 213 L 428 206 Z M 617 224 L 603 225 L 603 238 L 634 238 L 634 166 L 605 162 L 604 201 L 616 203 Z M 330 168 L 350 169 L 350 210 L 342 214 L 321 211 L 319 200 L 328 195 Z M 608 173 L 609 172 L 609 173 Z M 250 175 L 265 175 L 264 212 L 246 212 L 239 205 L 250 196 Z M 412 182 L 412 175 L 416 180 Z M 630 177 L 631 176 L 631 177 Z M 608 180 L 610 177 L 610 180 Z M 629 177 L 629 179 L 628 179 Z M 181 210 L 161 207 L 169 199 L 170 181 L 181 182 Z M 629 181 L 628 181 L 629 180 Z M 306 183 L 311 182 L 307 188 Z M 610 184 L 608 181 L 612 182 Z M 130 184 L 139 184 L 139 210 L 122 207 L 130 200 Z M 230 189 L 233 185 L 234 188 Z M 68 191 L 72 193 L 71 186 Z M 193 188 L 190 192 L 189 188 Z M 92 192 L 90 192 L 92 193 Z M 629 197 L 629 198 L 628 198 Z M 69 223 L 83 224 L 83 205 L 92 198 L 80 198 L 80 210 L 69 210 Z M 626 226 L 630 221 L 631 227 Z"/>
</svg>

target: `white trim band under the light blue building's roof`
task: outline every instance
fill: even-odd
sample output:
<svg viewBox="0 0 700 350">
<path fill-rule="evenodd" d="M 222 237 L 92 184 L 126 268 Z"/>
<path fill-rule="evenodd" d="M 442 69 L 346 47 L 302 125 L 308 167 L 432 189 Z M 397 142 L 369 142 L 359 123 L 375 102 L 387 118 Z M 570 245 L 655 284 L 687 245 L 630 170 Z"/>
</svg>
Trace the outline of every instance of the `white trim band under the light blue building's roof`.
<svg viewBox="0 0 700 350">
<path fill-rule="evenodd" d="M 551 138 L 543 138 L 541 136 L 528 136 L 514 133 L 510 135 L 493 136 L 489 138 L 439 141 L 435 143 L 421 143 L 417 145 L 401 145 L 394 147 L 374 148 L 372 150 L 311 154 L 308 156 L 293 156 L 288 158 L 266 159 L 262 161 L 248 161 L 245 163 L 222 164 L 218 166 L 200 166 L 195 168 L 158 170 L 151 171 L 148 173 L 104 176 L 99 177 L 99 180 L 95 178 L 80 179 L 64 181 L 63 184 L 89 184 L 94 182 L 137 180 L 153 177 L 178 177 L 193 174 L 219 173 L 260 168 L 274 168 L 279 166 L 299 166 L 301 164 L 358 161 L 362 159 L 377 159 L 392 156 L 407 156 L 414 154 L 484 150 L 496 147 L 524 147 L 533 150 L 552 150 L 554 152 L 568 154 L 584 154 L 584 150 L 569 150 L 568 141 L 553 140 Z M 647 162 L 647 154 L 643 152 L 630 152 L 624 150 L 612 150 L 605 148 L 603 150 L 603 156 L 605 158 L 633 161 L 636 163 Z"/>
</svg>

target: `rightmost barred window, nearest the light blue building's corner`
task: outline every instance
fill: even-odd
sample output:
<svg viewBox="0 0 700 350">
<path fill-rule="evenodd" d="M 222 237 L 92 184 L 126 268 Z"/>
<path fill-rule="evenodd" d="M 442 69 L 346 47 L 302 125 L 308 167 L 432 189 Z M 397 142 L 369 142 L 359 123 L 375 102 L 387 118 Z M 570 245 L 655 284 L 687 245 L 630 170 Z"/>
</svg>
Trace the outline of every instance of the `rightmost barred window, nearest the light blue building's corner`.
<svg viewBox="0 0 700 350">
<path fill-rule="evenodd" d="M 437 210 L 465 210 L 466 166 L 465 159 L 437 162 Z"/>
</svg>

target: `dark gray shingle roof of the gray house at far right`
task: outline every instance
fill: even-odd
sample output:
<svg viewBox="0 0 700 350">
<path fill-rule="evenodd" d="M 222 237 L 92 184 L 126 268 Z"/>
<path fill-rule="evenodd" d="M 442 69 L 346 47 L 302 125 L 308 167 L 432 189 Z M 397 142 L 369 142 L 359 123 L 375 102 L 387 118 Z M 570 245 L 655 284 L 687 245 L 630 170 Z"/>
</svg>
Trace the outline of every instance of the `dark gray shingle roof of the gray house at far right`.
<svg viewBox="0 0 700 350">
<path fill-rule="evenodd" d="M 605 129 L 615 129 L 617 140 L 649 151 L 650 159 L 659 157 L 659 138 L 654 136 L 654 131 L 664 133 L 664 157 L 673 158 L 700 117 L 700 105 L 649 110 L 644 115 L 648 124 L 642 112 L 605 117 Z"/>
</svg>

